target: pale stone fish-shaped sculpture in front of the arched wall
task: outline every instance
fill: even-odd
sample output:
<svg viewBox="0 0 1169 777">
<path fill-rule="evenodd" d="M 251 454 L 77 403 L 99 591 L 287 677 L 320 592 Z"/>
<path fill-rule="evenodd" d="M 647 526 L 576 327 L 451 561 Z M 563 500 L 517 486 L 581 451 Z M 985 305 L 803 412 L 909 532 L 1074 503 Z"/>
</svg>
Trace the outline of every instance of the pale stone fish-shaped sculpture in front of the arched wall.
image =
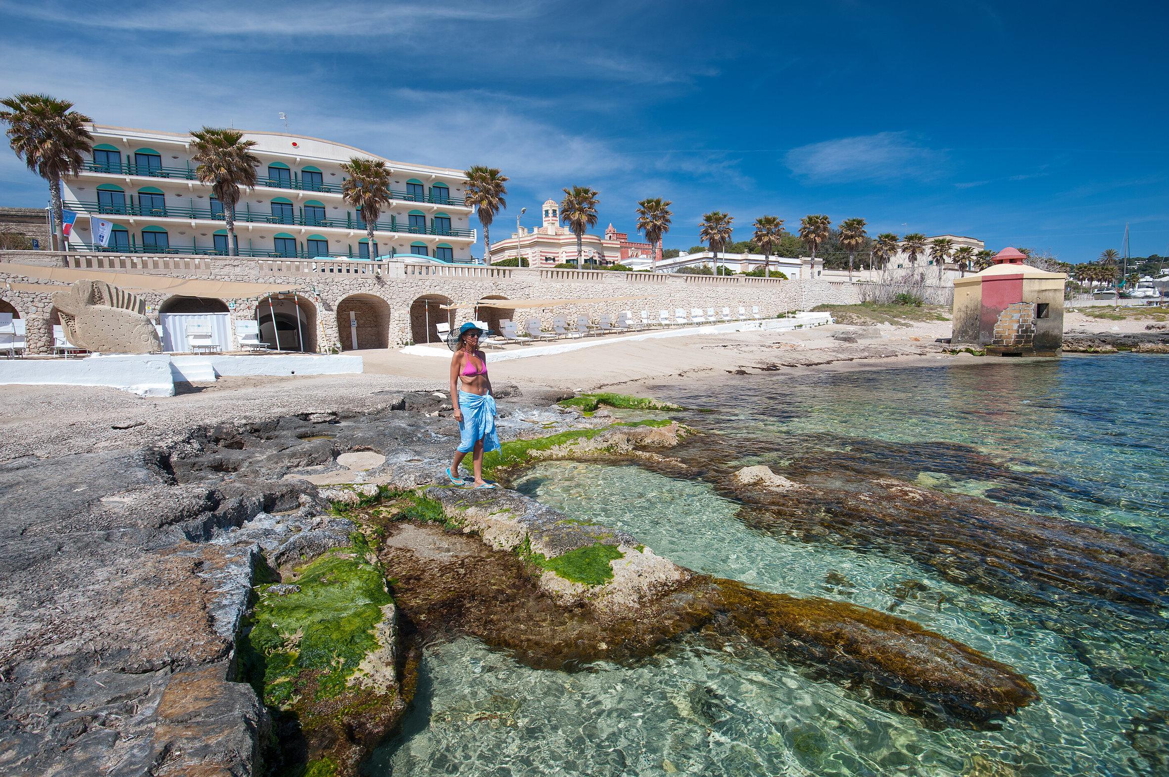
<svg viewBox="0 0 1169 777">
<path fill-rule="evenodd" d="M 161 353 L 158 331 L 136 294 L 102 280 L 78 280 L 53 296 L 69 342 L 97 353 Z"/>
</svg>

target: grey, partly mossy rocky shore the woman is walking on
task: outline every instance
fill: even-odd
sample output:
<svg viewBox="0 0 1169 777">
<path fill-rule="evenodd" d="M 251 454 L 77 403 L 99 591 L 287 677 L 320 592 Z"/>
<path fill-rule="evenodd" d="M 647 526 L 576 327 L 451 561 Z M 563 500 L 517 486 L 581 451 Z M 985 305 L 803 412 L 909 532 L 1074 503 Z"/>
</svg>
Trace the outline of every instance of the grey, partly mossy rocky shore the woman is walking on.
<svg viewBox="0 0 1169 777">
<path fill-rule="evenodd" d="M 687 470 L 670 419 L 500 394 L 497 477 L 548 458 Z M 1036 698 L 908 620 L 696 575 L 518 493 L 436 484 L 447 397 L 388 404 L 0 466 L 0 769 L 354 773 L 401 720 L 419 645 L 456 633 L 568 670 L 682 633 L 745 639 L 938 726 Z"/>
</svg>

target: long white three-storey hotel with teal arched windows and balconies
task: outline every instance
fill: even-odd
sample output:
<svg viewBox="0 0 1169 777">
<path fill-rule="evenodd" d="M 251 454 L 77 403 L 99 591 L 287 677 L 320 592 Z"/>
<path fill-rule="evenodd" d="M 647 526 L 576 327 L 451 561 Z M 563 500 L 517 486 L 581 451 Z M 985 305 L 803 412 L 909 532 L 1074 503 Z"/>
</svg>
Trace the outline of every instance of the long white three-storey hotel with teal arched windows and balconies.
<svg viewBox="0 0 1169 777">
<path fill-rule="evenodd" d="M 77 213 L 75 251 L 95 247 L 90 216 L 113 223 L 106 250 L 139 254 L 228 254 L 223 208 L 195 178 L 188 134 L 92 126 L 94 153 L 64 182 L 64 207 Z M 244 132 L 260 158 L 258 185 L 236 206 L 240 255 L 369 258 L 360 211 L 341 197 L 341 164 L 383 159 L 340 143 L 281 132 Z M 379 216 L 373 256 L 427 256 L 470 262 L 476 230 L 464 204 L 463 171 L 385 160 L 393 201 Z"/>
</svg>

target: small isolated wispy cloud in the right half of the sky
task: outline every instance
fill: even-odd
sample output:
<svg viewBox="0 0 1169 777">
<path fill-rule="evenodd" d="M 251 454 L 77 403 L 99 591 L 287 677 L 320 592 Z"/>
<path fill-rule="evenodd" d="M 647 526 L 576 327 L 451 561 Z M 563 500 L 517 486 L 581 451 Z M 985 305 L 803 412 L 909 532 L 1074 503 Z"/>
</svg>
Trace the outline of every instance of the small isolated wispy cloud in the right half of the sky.
<svg viewBox="0 0 1169 777">
<path fill-rule="evenodd" d="M 946 154 L 922 146 L 908 132 L 879 132 L 800 146 L 784 161 L 811 183 L 891 182 L 938 178 Z"/>
</svg>

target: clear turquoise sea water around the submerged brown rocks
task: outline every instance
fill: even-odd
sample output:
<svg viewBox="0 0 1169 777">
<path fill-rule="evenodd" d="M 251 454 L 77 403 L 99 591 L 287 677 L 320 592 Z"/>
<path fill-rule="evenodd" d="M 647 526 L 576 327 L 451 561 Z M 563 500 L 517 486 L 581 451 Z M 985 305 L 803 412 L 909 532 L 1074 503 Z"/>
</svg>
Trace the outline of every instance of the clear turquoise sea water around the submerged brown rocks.
<svg viewBox="0 0 1169 777">
<path fill-rule="evenodd" d="M 660 387 L 742 466 L 897 478 L 1169 539 L 1169 358 L 736 376 Z M 782 410 L 777 410 L 782 408 Z M 679 451 L 685 458 L 685 451 Z M 989 463 L 989 464 L 988 464 Z M 1042 699 L 998 730 L 935 730 L 748 644 L 689 638 L 634 666 L 530 670 L 473 639 L 430 646 L 375 775 L 1164 775 L 1163 610 L 1019 604 L 957 585 L 895 543 L 748 527 L 701 477 L 549 463 L 519 484 L 692 569 L 909 618 L 1014 666 Z M 1162 548 L 1164 550 L 1164 548 Z"/>
</svg>

